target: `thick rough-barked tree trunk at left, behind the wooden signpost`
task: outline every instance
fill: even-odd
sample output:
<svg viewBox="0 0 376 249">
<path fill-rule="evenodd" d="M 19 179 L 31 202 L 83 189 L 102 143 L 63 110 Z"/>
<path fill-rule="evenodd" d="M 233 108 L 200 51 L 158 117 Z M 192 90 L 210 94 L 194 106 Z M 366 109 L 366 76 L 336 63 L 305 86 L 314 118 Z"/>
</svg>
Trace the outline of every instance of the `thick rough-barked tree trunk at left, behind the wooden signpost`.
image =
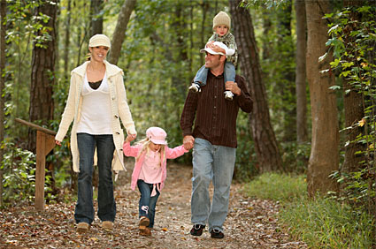
<svg viewBox="0 0 376 249">
<path fill-rule="evenodd" d="M 53 119 L 52 88 L 55 84 L 55 51 L 58 0 L 45 2 L 35 8 L 35 17 L 42 26 L 35 33 L 32 55 L 29 120 L 47 124 Z M 29 132 L 28 148 L 35 151 L 35 131 Z"/>
</svg>

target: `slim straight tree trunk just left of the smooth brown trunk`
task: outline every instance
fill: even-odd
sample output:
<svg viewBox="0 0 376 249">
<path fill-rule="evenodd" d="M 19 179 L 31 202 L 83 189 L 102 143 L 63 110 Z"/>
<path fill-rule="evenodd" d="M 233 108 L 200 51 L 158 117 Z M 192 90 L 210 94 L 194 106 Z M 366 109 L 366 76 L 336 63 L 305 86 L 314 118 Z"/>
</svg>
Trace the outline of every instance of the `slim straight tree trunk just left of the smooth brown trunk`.
<svg viewBox="0 0 376 249">
<path fill-rule="evenodd" d="M 296 141 L 303 144 L 308 141 L 307 131 L 307 92 L 305 53 L 307 44 L 307 26 L 305 17 L 304 0 L 295 0 L 296 18 L 296 67 L 295 67 L 295 92 L 296 92 Z M 305 158 L 297 158 L 306 164 Z"/>
</svg>

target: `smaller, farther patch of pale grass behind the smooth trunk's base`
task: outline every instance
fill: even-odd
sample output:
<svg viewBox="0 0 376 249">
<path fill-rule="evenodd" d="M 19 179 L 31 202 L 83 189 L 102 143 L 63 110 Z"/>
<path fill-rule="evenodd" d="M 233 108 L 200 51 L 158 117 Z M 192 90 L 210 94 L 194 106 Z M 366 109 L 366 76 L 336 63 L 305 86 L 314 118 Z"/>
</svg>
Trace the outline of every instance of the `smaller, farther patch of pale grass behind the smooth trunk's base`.
<svg viewBox="0 0 376 249">
<path fill-rule="evenodd" d="M 283 202 L 302 198 L 306 190 L 305 176 L 277 173 L 264 173 L 243 188 L 248 196 Z"/>
</svg>

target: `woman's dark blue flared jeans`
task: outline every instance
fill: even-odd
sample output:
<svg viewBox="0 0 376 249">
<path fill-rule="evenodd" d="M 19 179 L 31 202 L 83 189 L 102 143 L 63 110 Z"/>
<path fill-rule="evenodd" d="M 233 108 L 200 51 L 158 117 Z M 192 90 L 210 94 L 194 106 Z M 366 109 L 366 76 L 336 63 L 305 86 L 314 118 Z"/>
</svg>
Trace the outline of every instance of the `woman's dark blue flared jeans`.
<svg viewBox="0 0 376 249">
<path fill-rule="evenodd" d="M 93 164 L 94 152 L 98 158 L 98 217 L 101 221 L 115 220 L 116 203 L 113 197 L 112 158 L 115 150 L 112 135 L 90 135 L 77 133 L 80 152 L 78 177 L 78 200 L 74 211 L 76 223 L 91 224 L 94 221 L 93 207 Z"/>
</svg>

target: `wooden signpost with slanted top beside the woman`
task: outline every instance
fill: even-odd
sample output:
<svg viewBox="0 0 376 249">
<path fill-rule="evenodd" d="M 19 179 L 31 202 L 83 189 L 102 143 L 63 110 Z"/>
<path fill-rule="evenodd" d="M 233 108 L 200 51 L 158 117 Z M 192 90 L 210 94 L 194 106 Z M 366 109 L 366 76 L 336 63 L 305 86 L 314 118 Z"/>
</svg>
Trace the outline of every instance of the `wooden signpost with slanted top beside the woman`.
<svg viewBox="0 0 376 249">
<path fill-rule="evenodd" d="M 15 118 L 14 120 L 36 130 L 35 209 L 42 211 L 44 210 L 46 155 L 48 155 L 56 145 L 56 132 L 19 118 Z"/>
</svg>

